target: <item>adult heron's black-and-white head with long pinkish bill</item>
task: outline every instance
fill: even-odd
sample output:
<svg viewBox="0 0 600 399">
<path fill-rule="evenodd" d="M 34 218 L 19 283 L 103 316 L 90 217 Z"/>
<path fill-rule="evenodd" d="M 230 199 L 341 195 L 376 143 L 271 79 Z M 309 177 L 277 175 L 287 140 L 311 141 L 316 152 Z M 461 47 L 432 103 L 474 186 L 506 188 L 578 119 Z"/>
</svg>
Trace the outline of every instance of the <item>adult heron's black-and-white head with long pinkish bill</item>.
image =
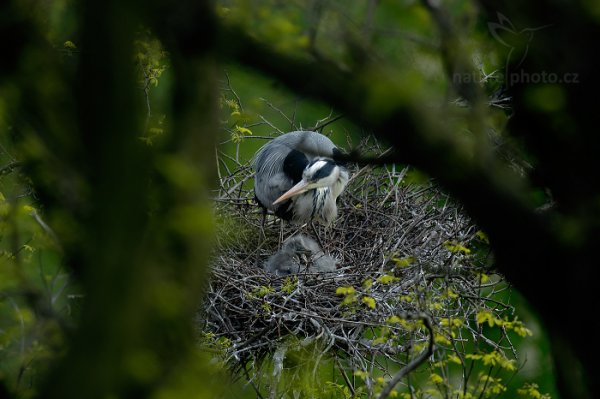
<svg viewBox="0 0 600 399">
<path fill-rule="evenodd" d="M 319 187 L 332 187 L 340 178 L 340 173 L 341 168 L 331 159 L 317 158 L 306 165 L 302 180 L 277 198 L 273 205 Z"/>
</svg>

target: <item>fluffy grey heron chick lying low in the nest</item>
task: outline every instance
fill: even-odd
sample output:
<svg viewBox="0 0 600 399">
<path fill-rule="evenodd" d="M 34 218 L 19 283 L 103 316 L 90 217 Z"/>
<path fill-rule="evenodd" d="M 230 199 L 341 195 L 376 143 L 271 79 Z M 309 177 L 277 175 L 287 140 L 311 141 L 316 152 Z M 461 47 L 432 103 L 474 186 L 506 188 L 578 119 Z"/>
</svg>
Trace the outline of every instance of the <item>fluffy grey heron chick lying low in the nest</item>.
<svg viewBox="0 0 600 399">
<path fill-rule="evenodd" d="M 281 250 L 264 264 L 264 269 L 277 276 L 305 273 L 334 272 L 337 260 L 325 255 L 319 244 L 303 234 L 289 238 Z"/>
</svg>

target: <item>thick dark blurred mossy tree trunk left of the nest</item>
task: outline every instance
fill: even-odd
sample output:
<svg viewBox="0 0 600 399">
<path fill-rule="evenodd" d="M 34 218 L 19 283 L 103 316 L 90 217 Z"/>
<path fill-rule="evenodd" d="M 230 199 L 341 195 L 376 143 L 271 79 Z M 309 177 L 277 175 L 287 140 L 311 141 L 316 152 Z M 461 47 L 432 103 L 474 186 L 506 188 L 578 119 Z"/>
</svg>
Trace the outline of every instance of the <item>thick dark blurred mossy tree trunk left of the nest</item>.
<svg viewBox="0 0 600 399">
<path fill-rule="evenodd" d="M 203 369 L 191 320 L 212 235 L 206 182 L 213 180 L 218 130 L 216 75 L 210 56 L 197 51 L 209 48 L 210 39 L 195 40 L 193 56 L 183 37 L 172 47 L 169 134 L 161 148 L 144 147 L 138 139 L 143 104 L 131 61 L 135 29 L 147 23 L 139 5 L 79 4 L 82 46 L 93 51 L 81 53 L 79 90 L 68 93 L 78 112 L 57 111 L 77 123 L 43 130 L 65 130 L 71 145 L 56 146 L 55 155 L 89 193 L 85 211 L 74 217 L 77 237 L 64 243 L 65 262 L 85 292 L 82 315 L 67 353 L 40 388 L 45 398 L 149 397 L 177 384 L 188 369 Z M 148 4 L 143 11 L 151 10 Z M 201 19 L 194 23 L 210 30 Z M 188 180 L 182 183 L 181 176 Z M 50 205 L 64 209 L 64 202 Z"/>
</svg>

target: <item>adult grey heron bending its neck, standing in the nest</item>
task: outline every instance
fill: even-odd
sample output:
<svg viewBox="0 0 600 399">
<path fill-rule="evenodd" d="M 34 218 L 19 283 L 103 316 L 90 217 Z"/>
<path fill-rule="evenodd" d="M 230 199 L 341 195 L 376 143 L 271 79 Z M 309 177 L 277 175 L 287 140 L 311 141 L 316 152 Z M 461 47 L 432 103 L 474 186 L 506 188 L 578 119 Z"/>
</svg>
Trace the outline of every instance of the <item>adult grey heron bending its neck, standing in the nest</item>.
<svg viewBox="0 0 600 399">
<path fill-rule="evenodd" d="M 293 223 L 329 225 L 349 179 L 348 170 L 334 160 L 340 154 L 329 138 L 316 132 L 290 132 L 271 140 L 254 159 L 259 205 Z"/>
</svg>

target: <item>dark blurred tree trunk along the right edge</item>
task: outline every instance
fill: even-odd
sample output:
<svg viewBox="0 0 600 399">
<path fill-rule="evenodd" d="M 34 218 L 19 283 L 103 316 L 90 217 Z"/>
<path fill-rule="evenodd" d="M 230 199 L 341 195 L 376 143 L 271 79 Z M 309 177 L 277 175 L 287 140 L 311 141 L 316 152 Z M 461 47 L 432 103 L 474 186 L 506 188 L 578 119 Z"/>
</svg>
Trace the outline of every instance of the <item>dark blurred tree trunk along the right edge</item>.
<svg viewBox="0 0 600 399">
<path fill-rule="evenodd" d="M 513 99 L 507 128 L 525 145 L 532 177 L 556 204 L 544 214 L 560 240 L 532 261 L 568 265 L 564 273 L 542 271 L 537 284 L 523 288 L 540 291 L 539 299 L 528 297 L 547 323 L 561 396 L 600 397 L 600 380 L 590 372 L 600 350 L 575 327 L 589 319 L 583 304 L 597 301 L 600 135 L 594 99 L 600 92 L 600 61 L 590 57 L 600 37 L 595 6 L 559 0 L 478 3 L 488 26 L 512 39 L 503 43 L 494 35 L 505 51 L 505 84 Z"/>
</svg>

